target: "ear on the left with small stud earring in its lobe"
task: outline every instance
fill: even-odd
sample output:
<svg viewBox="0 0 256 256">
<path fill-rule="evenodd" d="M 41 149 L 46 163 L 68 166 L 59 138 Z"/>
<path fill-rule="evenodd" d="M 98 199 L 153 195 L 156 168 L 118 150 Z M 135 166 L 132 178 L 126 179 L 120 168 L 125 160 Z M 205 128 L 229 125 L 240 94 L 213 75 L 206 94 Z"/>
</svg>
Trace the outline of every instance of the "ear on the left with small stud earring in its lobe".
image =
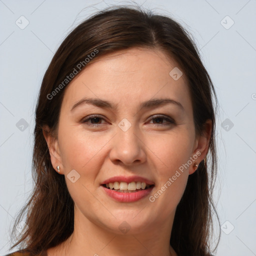
<svg viewBox="0 0 256 256">
<path fill-rule="evenodd" d="M 59 149 L 58 149 L 58 140 L 52 134 L 52 132 L 50 132 L 48 125 L 43 125 L 42 133 L 43 133 L 43 136 L 48 145 L 51 164 L 52 164 L 53 168 L 57 171 L 57 173 L 60 174 L 62 165 L 61 165 L 61 157 L 60 157 Z M 57 170 L 57 165 L 60 166 L 60 172 L 58 172 L 58 170 Z"/>
</svg>

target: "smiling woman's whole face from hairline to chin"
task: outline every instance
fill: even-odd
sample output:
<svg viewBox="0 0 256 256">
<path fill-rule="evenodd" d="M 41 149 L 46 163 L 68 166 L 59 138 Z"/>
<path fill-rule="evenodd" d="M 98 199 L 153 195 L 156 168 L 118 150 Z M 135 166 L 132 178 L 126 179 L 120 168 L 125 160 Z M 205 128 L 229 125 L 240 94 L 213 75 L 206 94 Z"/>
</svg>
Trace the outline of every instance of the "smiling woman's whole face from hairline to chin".
<svg viewBox="0 0 256 256">
<path fill-rule="evenodd" d="M 171 224 L 206 153 L 185 74 L 173 79 L 174 67 L 160 50 L 132 48 L 95 59 L 65 89 L 51 161 L 81 221 L 115 233 Z M 137 189 L 127 192 L 132 181 Z M 141 181 L 150 186 L 139 189 Z"/>
</svg>

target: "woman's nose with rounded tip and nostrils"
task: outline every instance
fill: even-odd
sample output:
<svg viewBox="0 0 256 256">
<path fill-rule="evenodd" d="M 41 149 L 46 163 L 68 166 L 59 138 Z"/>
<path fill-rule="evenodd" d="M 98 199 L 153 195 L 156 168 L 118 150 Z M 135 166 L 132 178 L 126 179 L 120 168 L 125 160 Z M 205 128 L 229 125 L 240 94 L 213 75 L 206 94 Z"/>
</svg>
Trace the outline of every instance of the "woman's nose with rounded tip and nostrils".
<svg viewBox="0 0 256 256">
<path fill-rule="evenodd" d="M 109 158 L 112 162 L 122 162 L 124 165 L 141 164 L 146 160 L 145 144 L 141 133 L 133 128 L 126 130 L 116 127 Z"/>
</svg>

